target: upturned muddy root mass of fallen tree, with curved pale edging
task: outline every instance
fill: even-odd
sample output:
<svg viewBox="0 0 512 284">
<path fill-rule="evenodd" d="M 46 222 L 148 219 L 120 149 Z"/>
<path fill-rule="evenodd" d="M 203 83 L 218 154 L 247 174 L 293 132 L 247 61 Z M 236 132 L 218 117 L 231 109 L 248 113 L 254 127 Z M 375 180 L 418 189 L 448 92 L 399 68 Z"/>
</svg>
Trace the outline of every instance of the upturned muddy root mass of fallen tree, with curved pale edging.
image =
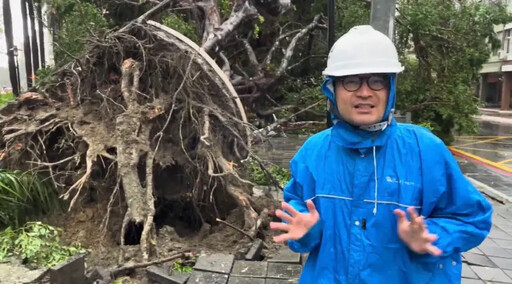
<svg viewBox="0 0 512 284">
<path fill-rule="evenodd" d="M 97 41 L 0 115 L 4 162 L 67 189 L 70 209 L 94 187 L 110 188 L 111 203 L 124 193 L 121 245 L 139 230 L 144 259 L 156 199 L 187 204 L 199 226 L 242 208 L 252 236 L 266 214 L 243 176 L 251 129 L 237 93 L 204 50 L 156 22 Z"/>
</svg>

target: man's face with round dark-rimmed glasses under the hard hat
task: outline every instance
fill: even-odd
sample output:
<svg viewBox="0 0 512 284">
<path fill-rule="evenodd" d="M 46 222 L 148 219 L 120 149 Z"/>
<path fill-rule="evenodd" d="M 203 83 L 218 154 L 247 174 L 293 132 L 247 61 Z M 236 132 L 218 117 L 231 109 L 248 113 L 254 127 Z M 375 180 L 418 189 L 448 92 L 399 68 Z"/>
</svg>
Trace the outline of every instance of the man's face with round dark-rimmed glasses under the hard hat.
<svg viewBox="0 0 512 284">
<path fill-rule="evenodd" d="M 334 82 L 336 104 L 346 122 L 362 126 L 382 120 L 389 94 L 387 75 L 350 75 Z"/>
</svg>

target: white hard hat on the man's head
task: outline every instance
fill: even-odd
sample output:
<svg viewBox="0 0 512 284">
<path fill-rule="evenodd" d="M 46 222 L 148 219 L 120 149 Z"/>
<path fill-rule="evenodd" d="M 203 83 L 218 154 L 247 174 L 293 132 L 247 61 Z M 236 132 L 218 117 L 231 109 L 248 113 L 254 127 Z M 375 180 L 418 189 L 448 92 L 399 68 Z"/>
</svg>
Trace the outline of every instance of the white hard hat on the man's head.
<svg viewBox="0 0 512 284">
<path fill-rule="evenodd" d="M 365 25 L 353 27 L 334 43 L 323 74 L 337 77 L 403 70 L 393 42 L 372 26 Z"/>
</svg>

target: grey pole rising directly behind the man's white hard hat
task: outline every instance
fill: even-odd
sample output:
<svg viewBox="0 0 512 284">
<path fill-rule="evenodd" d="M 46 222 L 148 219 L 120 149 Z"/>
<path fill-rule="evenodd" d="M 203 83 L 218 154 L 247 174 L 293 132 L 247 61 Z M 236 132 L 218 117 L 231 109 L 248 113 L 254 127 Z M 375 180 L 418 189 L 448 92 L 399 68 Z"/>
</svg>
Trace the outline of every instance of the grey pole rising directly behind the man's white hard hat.
<svg viewBox="0 0 512 284">
<path fill-rule="evenodd" d="M 370 25 L 393 40 L 396 0 L 372 0 Z"/>
</svg>

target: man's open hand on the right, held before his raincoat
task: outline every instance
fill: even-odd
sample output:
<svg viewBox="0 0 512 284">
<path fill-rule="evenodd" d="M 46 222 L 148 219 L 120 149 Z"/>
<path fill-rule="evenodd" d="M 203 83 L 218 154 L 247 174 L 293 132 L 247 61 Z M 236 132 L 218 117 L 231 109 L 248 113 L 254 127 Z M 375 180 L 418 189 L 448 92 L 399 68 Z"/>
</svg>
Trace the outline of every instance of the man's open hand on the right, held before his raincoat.
<svg viewBox="0 0 512 284">
<path fill-rule="evenodd" d="M 434 256 L 443 253 L 432 244 L 437 236 L 428 232 L 424 217 L 418 216 L 413 207 L 407 208 L 410 221 L 407 220 L 404 211 L 396 209 L 393 212 L 398 217 L 398 235 L 412 251 L 419 254 L 429 253 Z"/>
</svg>

